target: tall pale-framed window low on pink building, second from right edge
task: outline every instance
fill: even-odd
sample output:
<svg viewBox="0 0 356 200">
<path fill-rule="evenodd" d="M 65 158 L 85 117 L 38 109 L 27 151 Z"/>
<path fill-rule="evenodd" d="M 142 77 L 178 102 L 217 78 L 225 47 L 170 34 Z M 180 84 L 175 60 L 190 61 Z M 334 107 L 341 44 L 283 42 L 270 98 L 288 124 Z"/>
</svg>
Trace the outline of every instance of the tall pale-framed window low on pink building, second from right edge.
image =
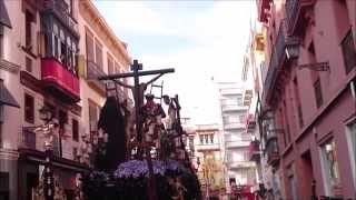
<svg viewBox="0 0 356 200">
<path fill-rule="evenodd" d="M 334 139 L 328 140 L 322 147 L 322 160 L 327 194 L 335 194 L 339 188 L 340 176 L 337 163 L 337 152 Z"/>
</svg>

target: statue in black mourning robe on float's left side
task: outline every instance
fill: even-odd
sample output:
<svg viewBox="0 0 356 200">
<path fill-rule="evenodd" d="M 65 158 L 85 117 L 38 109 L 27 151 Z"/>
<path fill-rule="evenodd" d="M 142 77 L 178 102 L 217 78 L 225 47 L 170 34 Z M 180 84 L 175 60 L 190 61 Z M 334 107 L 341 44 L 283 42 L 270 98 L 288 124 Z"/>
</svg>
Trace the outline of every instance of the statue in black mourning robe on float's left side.
<svg viewBox="0 0 356 200">
<path fill-rule="evenodd" d="M 108 97 L 101 109 L 98 129 L 107 136 L 105 151 L 95 158 L 95 168 L 112 172 L 126 157 L 125 120 L 115 97 Z M 106 138 L 106 137 L 105 137 Z"/>
</svg>

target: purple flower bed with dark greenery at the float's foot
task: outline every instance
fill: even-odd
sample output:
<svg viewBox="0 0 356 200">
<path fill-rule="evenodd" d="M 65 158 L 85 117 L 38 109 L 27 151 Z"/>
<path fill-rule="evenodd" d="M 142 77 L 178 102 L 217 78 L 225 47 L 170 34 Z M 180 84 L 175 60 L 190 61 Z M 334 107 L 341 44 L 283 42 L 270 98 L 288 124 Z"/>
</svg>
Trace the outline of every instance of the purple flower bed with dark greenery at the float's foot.
<svg viewBox="0 0 356 200">
<path fill-rule="evenodd" d="M 159 200 L 172 200 L 175 188 L 170 180 L 179 178 L 187 189 L 185 199 L 199 199 L 199 182 L 194 172 L 176 160 L 152 160 Z M 86 200 L 147 200 L 148 164 L 146 160 L 129 160 L 113 173 L 90 171 L 82 179 Z"/>
</svg>

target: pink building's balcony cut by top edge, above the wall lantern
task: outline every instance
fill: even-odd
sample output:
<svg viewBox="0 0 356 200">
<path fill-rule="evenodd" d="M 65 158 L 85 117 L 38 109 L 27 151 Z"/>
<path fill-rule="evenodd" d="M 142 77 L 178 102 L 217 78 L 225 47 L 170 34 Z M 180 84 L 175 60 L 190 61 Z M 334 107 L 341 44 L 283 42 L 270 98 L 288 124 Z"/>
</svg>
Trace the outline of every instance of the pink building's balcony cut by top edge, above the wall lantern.
<svg viewBox="0 0 356 200">
<path fill-rule="evenodd" d="M 313 8 L 315 0 L 287 0 L 286 17 L 288 22 L 288 34 L 293 36 L 305 28 L 307 12 Z"/>
</svg>

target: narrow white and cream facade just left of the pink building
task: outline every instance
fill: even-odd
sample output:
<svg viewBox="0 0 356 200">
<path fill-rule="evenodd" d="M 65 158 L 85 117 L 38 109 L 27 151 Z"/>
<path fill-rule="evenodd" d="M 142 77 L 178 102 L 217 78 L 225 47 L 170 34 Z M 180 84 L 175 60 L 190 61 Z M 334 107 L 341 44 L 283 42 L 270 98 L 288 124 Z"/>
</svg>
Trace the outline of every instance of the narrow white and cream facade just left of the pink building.
<svg viewBox="0 0 356 200">
<path fill-rule="evenodd" d="M 266 199 L 281 199 L 283 189 L 278 169 L 269 164 L 266 144 L 269 142 L 264 134 L 261 97 L 266 79 L 266 27 L 256 19 L 251 20 L 250 37 L 244 58 L 241 80 L 245 84 L 244 104 L 248 106 L 246 132 L 251 136 L 249 159 L 256 163 L 257 181 L 254 192 Z"/>
</svg>

